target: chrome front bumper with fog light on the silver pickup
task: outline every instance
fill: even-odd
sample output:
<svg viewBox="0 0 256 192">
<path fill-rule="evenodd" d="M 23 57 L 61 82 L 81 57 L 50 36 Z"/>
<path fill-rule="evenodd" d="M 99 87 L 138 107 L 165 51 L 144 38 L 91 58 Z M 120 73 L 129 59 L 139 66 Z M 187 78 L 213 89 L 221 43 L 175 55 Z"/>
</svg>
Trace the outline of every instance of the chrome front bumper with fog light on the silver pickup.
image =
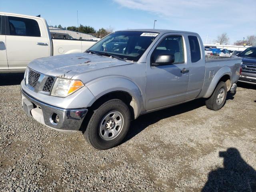
<svg viewBox="0 0 256 192">
<path fill-rule="evenodd" d="M 88 109 L 63 109 L 40 102 L 21 90 L 22 106 L 26 114 L 54 130 L 75 132 L 80 130 Z"/>
</svg>

